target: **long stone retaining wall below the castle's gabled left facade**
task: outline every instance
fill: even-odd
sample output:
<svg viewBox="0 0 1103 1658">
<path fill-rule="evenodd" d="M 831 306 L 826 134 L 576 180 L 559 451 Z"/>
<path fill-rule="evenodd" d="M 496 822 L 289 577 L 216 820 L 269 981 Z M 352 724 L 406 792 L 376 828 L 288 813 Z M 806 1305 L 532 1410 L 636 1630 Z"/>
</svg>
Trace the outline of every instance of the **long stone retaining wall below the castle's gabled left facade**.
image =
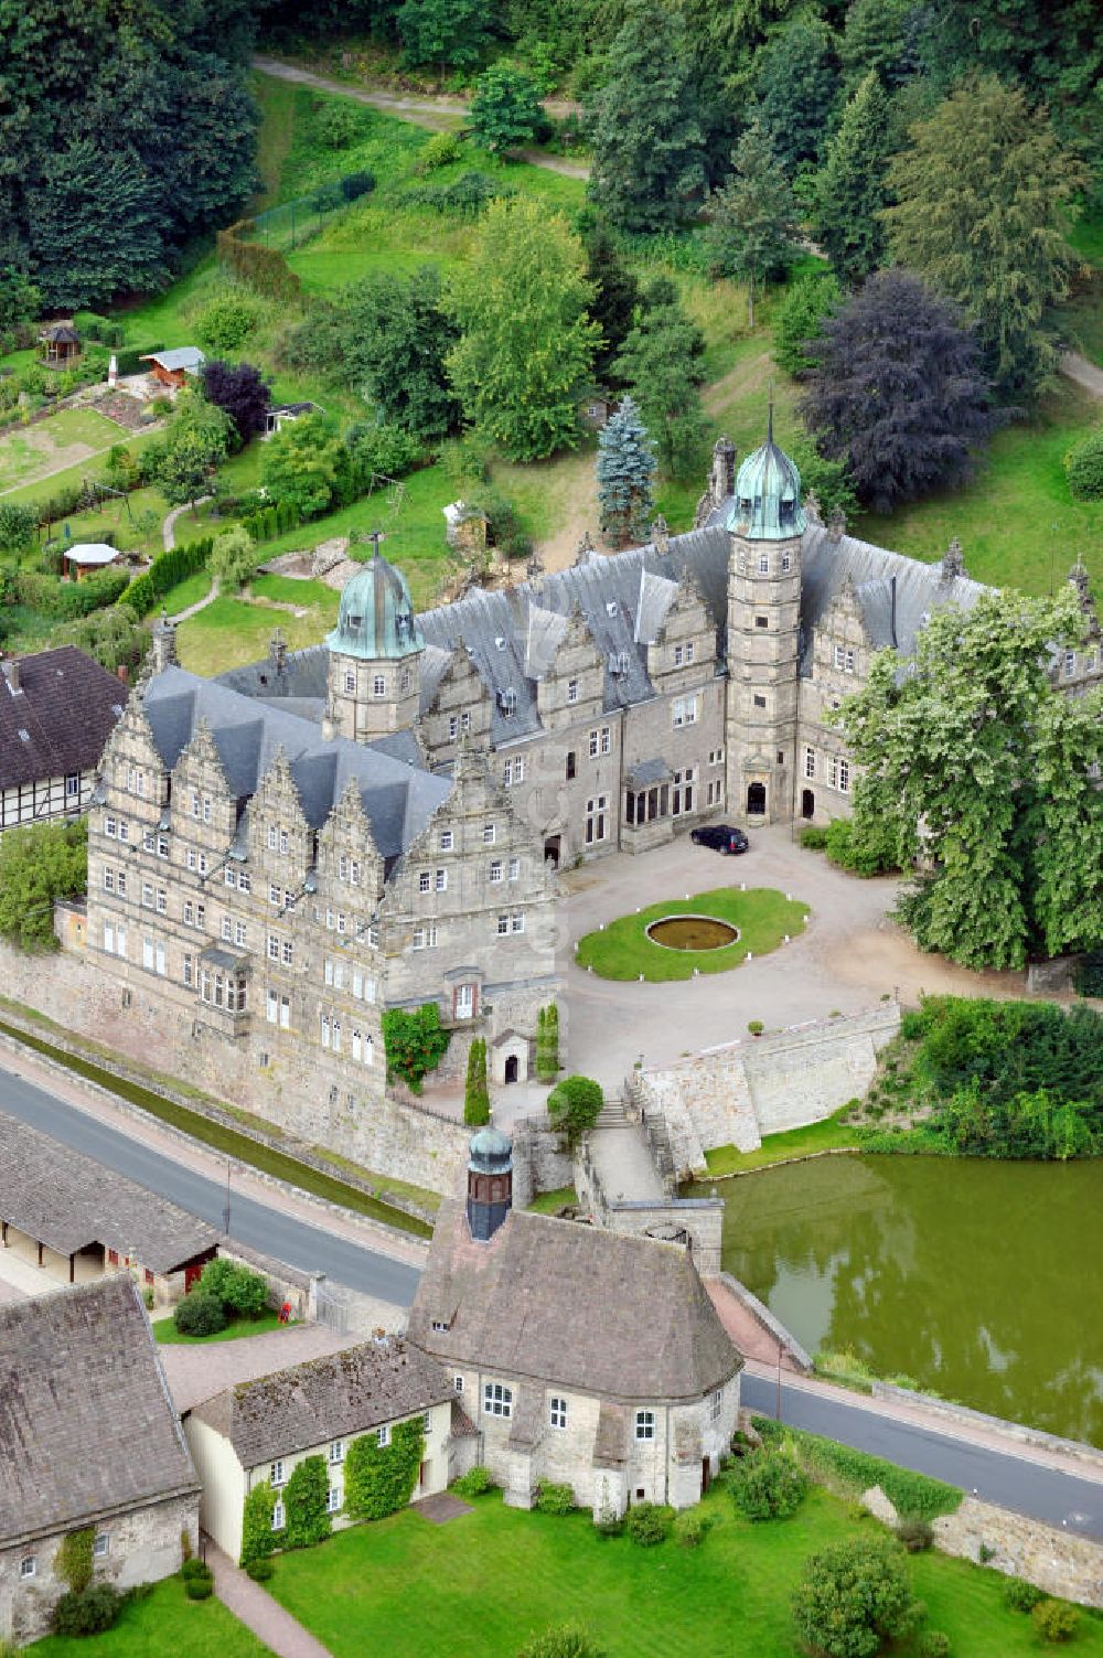
<svg viewBox="0 0 1103 1658">
<path fill-rule="evenodd" d="M 300 1043 L 287 1043 L 279 1053 L 274 1045 L 257 1054 L 191 1021 L 166 1018 L 161 1000 L 143 991 L 141 977 L 119 993 L 93 957 L 30 957 L 0 943 L 5 996 L 36 1008 L 73 1035 L 255 1113 L 264 1119 L 259 1129 L 275 1124 L 285 1136 L 335 1151 L 365 1169 L 448 1195 L 459 1190 L 469 1139 L 461 1122 L 390 1096 L 368 1099 L 355 1093 L 365 1068 L 352 1059 L 342 1066 L 340 1058 L 325 1056 L 323 1068 L 322 1054 Z M 267 1063 L 260 1064 L 260 1058 Z M 295 1147 L 287 1151 L 294 1154 Z"/>
</svg>

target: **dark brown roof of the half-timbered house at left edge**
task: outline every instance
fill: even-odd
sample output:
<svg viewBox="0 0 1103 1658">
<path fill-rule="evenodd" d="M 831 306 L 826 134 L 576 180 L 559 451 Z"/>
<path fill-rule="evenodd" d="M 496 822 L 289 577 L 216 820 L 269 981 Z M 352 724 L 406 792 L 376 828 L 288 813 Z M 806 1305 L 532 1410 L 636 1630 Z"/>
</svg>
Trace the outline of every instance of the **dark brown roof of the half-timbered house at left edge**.
<svg viewBox="0 0 1103 1658">
<path fill-rule="evenodd" d="M 126 688 L 75 645 L 20 657 L 18 678 L 0 678 L 0 789 L 93 771 Z"/>
</svg>

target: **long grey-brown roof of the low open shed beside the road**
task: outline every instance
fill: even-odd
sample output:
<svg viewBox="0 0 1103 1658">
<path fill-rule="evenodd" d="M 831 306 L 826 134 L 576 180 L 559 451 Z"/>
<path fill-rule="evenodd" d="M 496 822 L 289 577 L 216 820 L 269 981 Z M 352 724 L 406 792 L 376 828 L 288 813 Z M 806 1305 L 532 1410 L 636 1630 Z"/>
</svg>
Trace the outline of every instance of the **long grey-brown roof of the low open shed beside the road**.
<svg viewBox="0 0 1103 1658">
<path fill-rule="evenodd" d="M 212 1248 L 206 1220 L 0 1111 L 0 1217 L 60 1255 L 100 1244 L 172 1272 Z"/>
</svg>

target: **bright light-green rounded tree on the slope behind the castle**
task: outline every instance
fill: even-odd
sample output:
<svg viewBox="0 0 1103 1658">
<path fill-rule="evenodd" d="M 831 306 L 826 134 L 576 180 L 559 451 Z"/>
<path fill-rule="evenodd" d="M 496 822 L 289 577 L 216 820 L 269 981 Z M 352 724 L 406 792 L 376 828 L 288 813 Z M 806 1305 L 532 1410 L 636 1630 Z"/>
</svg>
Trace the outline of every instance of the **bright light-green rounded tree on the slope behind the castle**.
<svg viewBox="0 0 1103 1658">
<path fill-rule="evenodd" d="M 562 214 L 527 197 L 491 202 L 446 307 L 459 327 L 448 375 L 476 431 L 509 459 L 572 449 L 597 323 L 582 244 Z"/>
</svg>

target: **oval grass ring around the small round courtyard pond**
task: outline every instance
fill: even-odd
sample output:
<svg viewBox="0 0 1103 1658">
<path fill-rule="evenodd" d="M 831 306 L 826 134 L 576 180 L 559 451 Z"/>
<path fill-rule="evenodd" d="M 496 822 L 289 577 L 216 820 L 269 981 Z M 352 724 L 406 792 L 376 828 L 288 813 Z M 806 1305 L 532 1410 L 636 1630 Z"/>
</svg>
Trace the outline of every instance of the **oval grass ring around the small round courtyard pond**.
<svg viewBox="0 0 1103 1658">
<path fill-rule="evenodd" d="M 718 950 L 672 950 L 647 937 L 647 927 L 663 915 L 712 915 L 740 928 L 735 943 Z M 717 887 L 713 892 L 695 892 L 685 899 L 665 899 L 635 915 L 622 915 L 599 932 L 579 940 L 576 962 L 592 967 L 600 978 L 647 978 L 660 983 L 670 978 L 692 978 L 693 972 L 726 973 L 741 967 L 748 952 L 768 955 L 776 950 L 785 935 L 794 938 L 804 930 L 808 905 L 799 899 L 786 899 L 773 887 Z"/>
</svg>

